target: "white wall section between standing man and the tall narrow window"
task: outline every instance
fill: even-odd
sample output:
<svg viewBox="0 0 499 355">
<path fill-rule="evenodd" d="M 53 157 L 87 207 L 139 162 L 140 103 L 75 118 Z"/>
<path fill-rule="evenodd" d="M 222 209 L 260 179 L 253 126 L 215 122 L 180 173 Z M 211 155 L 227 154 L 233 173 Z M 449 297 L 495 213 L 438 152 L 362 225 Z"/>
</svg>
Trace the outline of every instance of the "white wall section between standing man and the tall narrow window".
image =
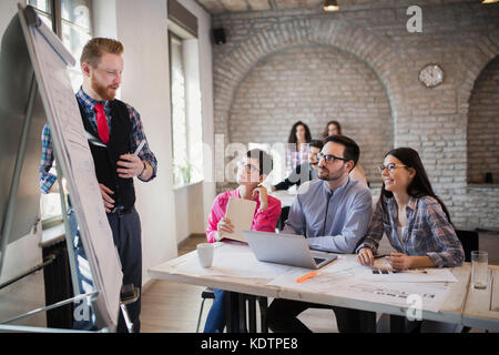
<svg viewBox="0 0 499 355">
<path fill-rule="evenodd" d="M 141 114 L 149 144 L 159 162 L 153 181 L 135 184 L 145 283 L 149 267 L 177 255 L 171 173 L 166 1 L 119 0 L 115 10 L 118 39 L 124 45 L 121 99 Z"/>
</svg>

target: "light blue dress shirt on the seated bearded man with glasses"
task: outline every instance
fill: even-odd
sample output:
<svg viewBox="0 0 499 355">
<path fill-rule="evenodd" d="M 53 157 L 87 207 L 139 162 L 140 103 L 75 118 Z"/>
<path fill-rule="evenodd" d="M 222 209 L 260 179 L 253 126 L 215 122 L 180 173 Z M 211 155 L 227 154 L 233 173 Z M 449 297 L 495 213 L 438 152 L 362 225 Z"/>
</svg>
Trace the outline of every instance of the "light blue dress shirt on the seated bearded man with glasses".
<svg viewBox="0 0 499 355">
<path fill-rule="evenodd" d="M 373 213 L 373 196 L 363 183 L 348 180 L 332 191 L 323 180 L 299 186 L 283 233 L 307 237 L 308 246 L 333 253 L 355 253 Z"/>
</svg>

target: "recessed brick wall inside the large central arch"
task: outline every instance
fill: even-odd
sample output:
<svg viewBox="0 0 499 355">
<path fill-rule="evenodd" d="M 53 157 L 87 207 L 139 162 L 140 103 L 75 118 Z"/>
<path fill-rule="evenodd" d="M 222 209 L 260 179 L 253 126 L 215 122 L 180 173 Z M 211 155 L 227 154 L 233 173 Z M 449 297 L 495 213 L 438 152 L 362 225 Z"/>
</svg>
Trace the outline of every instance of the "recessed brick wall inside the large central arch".
<svg viewBox="0 0 499 355">
<path fill-rule="evenodd" d="M 376 74 L 333 47 L 292 47 L 256 64 L 237 89 L 228 120 L 232 142 L 286 142 L 296 121 L 314 139 L 329 120 L 360 146 L 369 181 L 394 144 L 391 112 Z M 264 129 L 262 129 L 264 128 Z"/>
</svg>

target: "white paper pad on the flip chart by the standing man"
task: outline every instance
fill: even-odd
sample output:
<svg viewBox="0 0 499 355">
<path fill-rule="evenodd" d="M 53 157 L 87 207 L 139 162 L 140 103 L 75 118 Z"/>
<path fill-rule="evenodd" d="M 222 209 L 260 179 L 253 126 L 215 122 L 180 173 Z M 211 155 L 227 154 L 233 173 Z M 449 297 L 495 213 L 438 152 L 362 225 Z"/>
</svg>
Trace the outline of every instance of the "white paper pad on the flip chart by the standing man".
<svg viewBox="0 0 499 355">
<path fill-rule="evenodd" d="M 80 232 L 89 247 L 85 252 L 94 272 L 94 283 L 101 290 L 96 301 L 100 314 L 106 324 L 116 325 L 123 275 L 67 63 L 38 29 L 29 29 L 38 62 L 37 80 L 58 148 L 58 163 L 64 168 Z"/>
</svg>

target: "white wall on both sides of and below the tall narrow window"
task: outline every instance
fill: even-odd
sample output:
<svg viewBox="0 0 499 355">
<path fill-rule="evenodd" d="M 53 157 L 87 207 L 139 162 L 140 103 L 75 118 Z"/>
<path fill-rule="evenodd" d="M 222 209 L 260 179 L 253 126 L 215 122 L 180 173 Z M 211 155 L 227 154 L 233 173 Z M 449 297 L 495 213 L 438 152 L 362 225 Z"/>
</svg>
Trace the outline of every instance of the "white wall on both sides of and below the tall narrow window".
<svg viewBox="0 0 499 355">
<path fill-rule="evenodd" d="M 177 242 L 192 233 L 204 233 L 215 185 L 205 182 L 173 191 L 166 1 L 109 2 L 111 4 L 108 3 L 105 10 L 115 11 L 116 31 L 113 33 L 110 26 L 96 24 L 95 29 L 99 29 L 99 36 L 116 37 L 123 42 L 121 99 L 140 112 L 151 149 L 159 161 L 156 179 L 135 185 L 136 207 L 142 220 L 145 283 L 149 267 L 177 255 Z M 211 17 L 193 0 L 180 2 L 198 20 L 203 141 L 213 146 Z M 109 18 L 112 22 L 113 14 Z M 102 21 L 108 16 L 99 14 L 95 19 Z M 206 164 L 210 165 L 211 161 Z M 206 180 L 213 181 L 213 178 Z"/>
</svg>

